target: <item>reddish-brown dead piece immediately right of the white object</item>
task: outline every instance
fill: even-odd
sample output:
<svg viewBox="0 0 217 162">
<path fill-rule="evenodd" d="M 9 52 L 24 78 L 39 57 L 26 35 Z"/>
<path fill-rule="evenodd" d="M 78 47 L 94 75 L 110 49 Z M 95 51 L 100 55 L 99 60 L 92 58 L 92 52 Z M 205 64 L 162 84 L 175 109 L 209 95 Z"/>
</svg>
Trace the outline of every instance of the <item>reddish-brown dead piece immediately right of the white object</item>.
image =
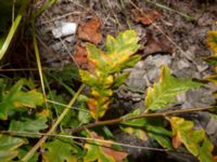
<svg viewBox="0 0 217 162">
<path fill-rule="evenodd" d="M 100 18 L 93 17 L 78 28 L 78 38 L 98 44 L 102 41 Z"/>
</svg>

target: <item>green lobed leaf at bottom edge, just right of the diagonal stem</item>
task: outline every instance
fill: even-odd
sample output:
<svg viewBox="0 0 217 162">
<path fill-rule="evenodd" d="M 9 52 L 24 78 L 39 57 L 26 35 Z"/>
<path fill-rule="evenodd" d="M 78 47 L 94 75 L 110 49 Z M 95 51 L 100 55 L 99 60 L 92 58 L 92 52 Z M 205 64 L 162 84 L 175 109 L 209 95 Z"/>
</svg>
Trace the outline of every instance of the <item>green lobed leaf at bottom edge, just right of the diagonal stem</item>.
<svg viewBox="0 0 217 162">
<path fill-rule="evenodd" d="M 42 153 L 43 162 L 77 162 L 75 154 L 77 154 L 78 148 L 72 143 L 73 140 L 69 138 L 55 138 L 43 144 L 43 148 L 47 149 Z"/>
</svg>

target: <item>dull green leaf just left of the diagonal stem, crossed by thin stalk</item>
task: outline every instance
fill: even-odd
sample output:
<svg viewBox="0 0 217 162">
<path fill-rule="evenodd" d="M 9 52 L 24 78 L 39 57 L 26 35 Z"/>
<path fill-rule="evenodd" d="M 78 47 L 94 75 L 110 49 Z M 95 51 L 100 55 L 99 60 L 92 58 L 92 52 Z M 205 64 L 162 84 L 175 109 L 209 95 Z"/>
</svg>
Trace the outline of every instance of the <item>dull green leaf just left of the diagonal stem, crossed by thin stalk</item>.
<svg viewBox="0 0 217 162">
<path fill-rule="evenodd" d="M 47 119 L 46 118 L 37 118 L 37 119 L 26 119 L 15 121 L 12 120 L 10 123 L 10 131 L 14 132 L 33 132 L 33 133 L 39 133 L 39 131 L 44 130 L 48 127 L 46 124 Z M 40 137 L 40 135 L 35 134 L 17 134 L 18 136 L 25 136 L 25 137 Z"/>
</svg>

